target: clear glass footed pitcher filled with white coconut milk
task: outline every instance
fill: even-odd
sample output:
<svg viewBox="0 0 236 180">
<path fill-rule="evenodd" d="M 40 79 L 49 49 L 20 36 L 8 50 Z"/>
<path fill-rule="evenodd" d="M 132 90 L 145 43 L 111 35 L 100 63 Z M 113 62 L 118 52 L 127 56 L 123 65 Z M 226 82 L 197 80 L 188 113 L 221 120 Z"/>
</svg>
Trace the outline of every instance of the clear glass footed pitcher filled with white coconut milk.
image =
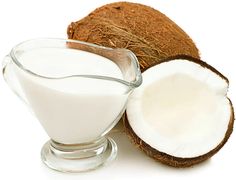
<svg viewBox="0 0 236 180">
<path fill-rule="evenodd" d="M 116 157 L 116 144 L 105 135 L 142 82 L 131 51 L 75 40 L 29 40 L 5 57 L 3 75 L 51 139 L 41 150 L 48 167 L 88 171 Z"/>
</svg>

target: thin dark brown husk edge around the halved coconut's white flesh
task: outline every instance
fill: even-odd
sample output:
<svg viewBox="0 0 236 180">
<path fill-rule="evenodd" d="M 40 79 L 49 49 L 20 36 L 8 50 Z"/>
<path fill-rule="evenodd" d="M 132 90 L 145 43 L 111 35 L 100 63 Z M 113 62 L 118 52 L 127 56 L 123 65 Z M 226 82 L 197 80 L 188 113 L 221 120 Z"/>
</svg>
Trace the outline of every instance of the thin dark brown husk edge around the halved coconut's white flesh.
<svg viewBox="0 0 236 180">
<path fill-rule="evenodd" d="M 229 83 L 228 79 L 225 76 L 223 76 L 219 71 L 217 71 L 215 68 L 213 68 L 212 66 L 208 65 L 207 63 L 205 63 L 203 61 L 200 61 L 199 59 L 188 57 L 188 56 L 179 55 L 179 56 L 175 56 L 175 57 L 169 57 L 169 58 L 163 60 L 162 62 L 156 63 L 156 65 L 158 65 L 160 63 L 165 63 L 167 61 L 176 60 L 176 59 L 186 59 L 186 60 L 198 63 L 202 67 L 210 69 L 211 71 L 213 71 L 214 73 L 219 75 L 222 79 L 224 79 L 227 83 Z M 153 158 L 153 159 L 155 159 L 155 160 L 157 160 L 157 161 L 159 161 L 163 164 L 173 166 L 173 167 L 177 167 L 177 168 L 190 167 L 190 166 L 193 166 L 195 164 L 203 162 L 203 161 L 209 159 L 210 157 L 212 157 L 228 141 L 231 133 L 233 132 L 233 125 L 234 125 L 234 109 L 233 109 L 232 102 L 230 101 L 229 98 L 228 98 L 228 100 L 229 100 L 229 103 L 230 103 L 230 106 L 231 106 L 231 116 L 230 116 L 230 119 L 229 119 L 228 129 L 225 133 L 225 137 L 223 138 L 223 140 L 219 143 L 219 145 L 217 147 L 215 147 L 212 150 L 209 150 L 208 153 L 203 154 L 203 155 L 198 156 L 198 157 L 192 157 L 192 158 L 175 157 L 175 156 L 171 156 L 171 155 L 169 155 L 165 152 L 161 152 L 157 149 L 154 149 L 151 145 L 145 143 L 140 137 L 138 137 L 135 134 L 135 132 L 133 131 L 132 127 L 129 124 L 127 115 L 126 115 L 125 118 L 123 118 L 123 124 L 124 124 L 124 128 L 125 128 L 125 132 L 128 135 L 128 137 L 130 138 L 130 140 L 136 145 L 136 147 L 141 149 L 145 154 L 147 154 L 151 158 Z"/>
</svg>

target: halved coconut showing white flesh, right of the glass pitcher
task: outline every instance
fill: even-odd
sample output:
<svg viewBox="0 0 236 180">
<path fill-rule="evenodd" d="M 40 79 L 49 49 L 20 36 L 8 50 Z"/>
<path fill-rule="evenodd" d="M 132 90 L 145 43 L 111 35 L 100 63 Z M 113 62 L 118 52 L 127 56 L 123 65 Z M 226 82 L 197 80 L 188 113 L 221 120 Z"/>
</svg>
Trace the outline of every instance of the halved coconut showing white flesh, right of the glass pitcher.
<svg viewBox="0 0 236 180">
<path fill-rule="evenodd" d="M 177 56 L 143 72 L 131 95 L 125 130 L 147 155 L 188 167 L 214 155 L 233 130 L 228 79 L 203 61 Z"/>
</svg>

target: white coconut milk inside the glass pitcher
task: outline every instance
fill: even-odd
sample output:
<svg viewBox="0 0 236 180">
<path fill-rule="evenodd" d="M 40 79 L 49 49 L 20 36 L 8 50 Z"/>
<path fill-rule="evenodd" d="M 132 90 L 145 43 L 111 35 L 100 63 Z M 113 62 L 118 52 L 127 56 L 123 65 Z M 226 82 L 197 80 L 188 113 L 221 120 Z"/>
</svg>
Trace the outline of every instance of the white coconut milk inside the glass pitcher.
<svg viewBox="0 0 236 180">
<path fill-rule="evenodd" d="M 49 77 L 102 75 L 122 79 L 112 61 L 72 49 L 37 49 L 19 57 L 28 70 Z M 97 139 L 125 106 L 127 87 L 116 81 L 68 77 L 46 79 L 15 67 L 35 115 L 54 141 L 64 144 Z"/>
</svg>

